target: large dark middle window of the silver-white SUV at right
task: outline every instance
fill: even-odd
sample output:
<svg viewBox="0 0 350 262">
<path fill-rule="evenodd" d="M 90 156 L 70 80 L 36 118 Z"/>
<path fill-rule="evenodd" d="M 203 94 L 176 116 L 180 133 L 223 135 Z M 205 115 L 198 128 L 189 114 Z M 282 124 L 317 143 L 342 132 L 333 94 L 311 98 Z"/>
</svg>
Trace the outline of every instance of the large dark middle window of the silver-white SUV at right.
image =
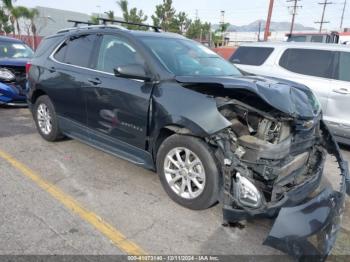
<svg viewBox="0 0 350 262">
<path fill-rule="evenodd" d="M 287 49 L 280 66 L 294 73 L 332 78 L 334 54 L 326 50 Z"/>
</svg>

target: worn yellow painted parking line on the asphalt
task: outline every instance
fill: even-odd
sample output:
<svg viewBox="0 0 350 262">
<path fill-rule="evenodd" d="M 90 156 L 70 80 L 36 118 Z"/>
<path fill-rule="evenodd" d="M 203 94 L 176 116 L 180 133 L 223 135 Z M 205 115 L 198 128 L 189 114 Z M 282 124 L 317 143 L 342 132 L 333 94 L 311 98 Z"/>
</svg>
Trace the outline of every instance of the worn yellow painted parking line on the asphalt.
<svg viewBox="0 0 350 262">
<path fill-rule="evenodd" d="M 24 176 L 30 178 L 38 186 L 48 192 L 51 196 L 65 205 L 69 210 L 78 214 L 83 220 L 89 222 L 103 235 L 109 238 L 115 246 L 129 255 L 145 255 L 146 252 L 138 245 L 128 240 L 121 232 L 113 226 L 103 221 L 97 214 L 84 208 L 74 198 L 64 193 L 55 185 L 42 179 L 38 174 L 31 170 L 26 165 L 17 161 L 14 157 L 0 150 L 0 158 L 6 160 L 9 164 L 19 170 Z"/>
</svg>

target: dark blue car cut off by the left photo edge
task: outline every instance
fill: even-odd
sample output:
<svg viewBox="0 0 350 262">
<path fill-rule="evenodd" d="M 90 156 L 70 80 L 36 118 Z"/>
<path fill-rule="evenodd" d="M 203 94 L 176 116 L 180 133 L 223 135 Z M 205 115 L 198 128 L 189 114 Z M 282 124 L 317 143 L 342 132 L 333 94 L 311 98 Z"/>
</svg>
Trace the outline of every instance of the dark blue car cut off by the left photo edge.
<svg viewBox="0 0 350 262">
<path fill-rule="evenodd" d="M 0 105 L 26 104 L 26 64 L 33 54 L 21 40 L 0 36 Z"/>
</svg>

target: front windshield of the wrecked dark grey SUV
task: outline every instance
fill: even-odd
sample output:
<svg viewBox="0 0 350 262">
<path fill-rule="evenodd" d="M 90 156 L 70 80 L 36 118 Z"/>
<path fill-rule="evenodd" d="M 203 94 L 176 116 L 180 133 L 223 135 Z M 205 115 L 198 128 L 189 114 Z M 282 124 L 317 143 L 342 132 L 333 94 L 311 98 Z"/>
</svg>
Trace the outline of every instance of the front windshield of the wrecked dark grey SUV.
<svg viewBox="0 0 350 262">
<path fill-rule="evenodd" d="M 239 70 L 195 41 L 178 38 L 141 39 L 176 76 L 240 76 Z"/>
</svg>

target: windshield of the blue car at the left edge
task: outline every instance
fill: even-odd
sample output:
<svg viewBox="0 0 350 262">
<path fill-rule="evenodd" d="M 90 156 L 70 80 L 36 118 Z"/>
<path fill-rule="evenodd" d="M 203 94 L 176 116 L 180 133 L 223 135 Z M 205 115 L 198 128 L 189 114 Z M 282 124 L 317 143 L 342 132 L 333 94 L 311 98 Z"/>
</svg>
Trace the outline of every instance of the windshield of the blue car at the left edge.
<svg viewBox="0 0 350 262">
<path fill-rule="evenodd" d="M 0 42 L 0 58 L 32 58 L 33 51 L 22 43 Z"/>
</svg>

